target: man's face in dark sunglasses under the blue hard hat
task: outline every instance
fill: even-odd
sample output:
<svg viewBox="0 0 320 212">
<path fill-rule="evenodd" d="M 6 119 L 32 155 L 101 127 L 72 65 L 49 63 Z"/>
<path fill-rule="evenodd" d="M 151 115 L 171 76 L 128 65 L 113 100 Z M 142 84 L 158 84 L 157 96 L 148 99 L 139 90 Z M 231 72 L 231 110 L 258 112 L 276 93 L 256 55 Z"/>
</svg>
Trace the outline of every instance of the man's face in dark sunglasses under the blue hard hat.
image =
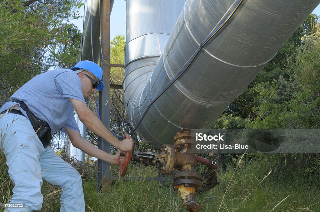
<svg viewBox="0 0 320 212">
<path fill-rule="evenodd" d="M 79 78 L 81 80 L 83 97 L 87 100 L 90 95 L 96 93 L 96 88 L 93 87 L 96 87 L 94 83 L 97 83 L 98 79 L 90 72 L 81 72 Z"/>
</svg>

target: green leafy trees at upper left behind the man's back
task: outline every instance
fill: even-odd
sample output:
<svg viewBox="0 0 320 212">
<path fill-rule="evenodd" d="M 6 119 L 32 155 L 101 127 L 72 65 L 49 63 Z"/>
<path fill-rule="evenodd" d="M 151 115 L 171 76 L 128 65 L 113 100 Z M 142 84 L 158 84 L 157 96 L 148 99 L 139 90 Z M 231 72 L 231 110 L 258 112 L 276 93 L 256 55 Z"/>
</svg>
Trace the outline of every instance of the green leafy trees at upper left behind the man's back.
<svg viewBox="0 0 320 212">
<path fill-rule="evenodd" d="M 0 41 L 4 41 L 0 47 L 0 91 L 6 94 L 1 104 L 48 69 L 48 51 L 64 36 L 61 29 L 66 20 L 78 15 L 75 11 L 80 6 L 80 0 L 8 0 L 0 4 L 0 25 L 5 29 L 0 33 Z"/>
</svg>

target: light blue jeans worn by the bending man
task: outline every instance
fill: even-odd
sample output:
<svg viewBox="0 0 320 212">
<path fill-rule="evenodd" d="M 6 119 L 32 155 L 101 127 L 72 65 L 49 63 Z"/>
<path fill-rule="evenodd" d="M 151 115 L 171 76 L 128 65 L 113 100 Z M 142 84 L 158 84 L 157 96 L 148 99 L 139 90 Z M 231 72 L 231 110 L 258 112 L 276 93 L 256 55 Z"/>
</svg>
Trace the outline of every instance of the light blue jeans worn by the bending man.
<svg viewBox="0 0 320 212">
<path fill-rule="evenodd" d="M 9 176 L 14 184 L 9 203 L 25 208 L 5 211 L 40 210 L 42 178 L 62 189 L 60 212 L 84 212 L 84 194 L 80 174 L 52 148 L 44 148 L 30 121 L 21 115 L 6 113 L 0 118 L 0 148 L 7 159 Z"/>
</svg>

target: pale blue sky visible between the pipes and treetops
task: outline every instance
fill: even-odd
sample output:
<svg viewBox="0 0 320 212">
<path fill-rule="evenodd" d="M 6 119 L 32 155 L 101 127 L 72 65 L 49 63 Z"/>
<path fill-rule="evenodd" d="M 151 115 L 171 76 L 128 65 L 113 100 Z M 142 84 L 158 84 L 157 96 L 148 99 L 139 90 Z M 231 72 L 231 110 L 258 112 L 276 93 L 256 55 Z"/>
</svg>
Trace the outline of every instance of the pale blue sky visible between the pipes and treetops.
<svg viewBox="0 0 320 212">
<path fill-rule="evenodd" d="M 89 0 L 90 1 L 90 0 Z M 88 1 L 86 1 L 88 2 Z M 110 17 L 110 39 L 114 38 L 117 34 L 125 35 L 125 4 L 124 0 L 115 0 Z M 87 8 L 87 4 L 85 5 Z M 80 15 L 83 15 L 84 6 L 79 9 Z M 312 12 L 320 16 L 320 4 Z M 83 28 L 83 18 L 79 20 L 72 20 L 72 23 L 78 26 L 78 29 L 82 31 Z"/>
</svg>

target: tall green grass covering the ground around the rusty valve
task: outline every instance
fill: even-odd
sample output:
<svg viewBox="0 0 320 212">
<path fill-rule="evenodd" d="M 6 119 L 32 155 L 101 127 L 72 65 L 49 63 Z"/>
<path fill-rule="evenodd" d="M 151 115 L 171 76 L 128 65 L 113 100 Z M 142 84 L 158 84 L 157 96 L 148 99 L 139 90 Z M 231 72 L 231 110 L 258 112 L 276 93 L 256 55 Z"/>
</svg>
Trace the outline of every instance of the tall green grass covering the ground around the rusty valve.
<svg viewBox="0 0 320 212">
<path fill-rule="evenodd" d="M 8 202 L 13 186 L 7 176 L 4 161 L 4 155 L 1 153 L 0 202 Z M 272 170 L 269 171 L 266 157 L 255 161 L 249 161 L 244 157 L 238 161 L 239 166 L 237 163 L 230 164 L 226 172 L 219 172 L 220 185 L 196 194 L 197 200 L 204 206 L 201 211 L 320 211 L 320 187 L 317 176 L 302 172 L 292 178 L 273 178 L 274 173 Z M 112 175 L 116 174 L 118 167 L 112 166 Z M 157 177 L 154 167 L 138 166 L 135 163 L 129 165 L 128 174 L 140 178 Z M 85 173 L 84 176 L 90 175 Z M 91 176 L 83 180 L 88 212 L 187 211 L 169 182 L 163 186 L 159 182 L 148 180 L 117 180 L 106 193 L 97 193 L 96 173 L 91 173 Z M 42 193 L 44 204 L 41 211 L 59 211 L 60 188 L 44 182 Z"/>
</svg>

